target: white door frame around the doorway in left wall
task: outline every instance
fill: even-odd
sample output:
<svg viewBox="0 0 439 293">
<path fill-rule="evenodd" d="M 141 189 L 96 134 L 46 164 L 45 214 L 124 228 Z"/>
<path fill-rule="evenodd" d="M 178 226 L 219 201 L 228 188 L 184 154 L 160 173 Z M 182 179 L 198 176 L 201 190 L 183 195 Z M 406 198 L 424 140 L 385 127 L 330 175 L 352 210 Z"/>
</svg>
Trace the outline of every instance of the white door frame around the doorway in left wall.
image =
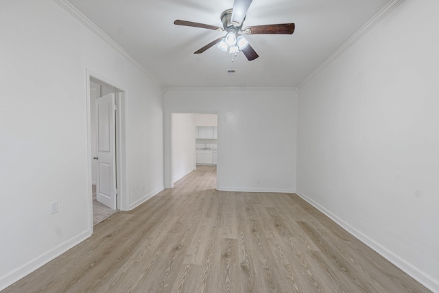
<svg viewBox="0 0 439 293">
<path fill-rule="evenodd" d="M 115 82 L 112 82 L 105 78 L 103 75 L 95 73 L 90 69 L 86 69 L 86 105 L 87 105 L 87 174 L 88 174 L 88 214 L 89 226 L 91 233 L 93 233 L 93 198 L 92 198 L 92 167 L 91 159 L 93 154 L 91 153 L 91 97 L 90 97 L 90 81 L 102 84 L 113 91 L 115 91 L 115 102 L 118 106 L 116 111 L 116 182 L 119 194 L 117 196 L 117 208 L 120 211 L 128 211 L 128 174 L 126 172 L 126 97 L 127 93 L 117 86 Z"/>
</svg>

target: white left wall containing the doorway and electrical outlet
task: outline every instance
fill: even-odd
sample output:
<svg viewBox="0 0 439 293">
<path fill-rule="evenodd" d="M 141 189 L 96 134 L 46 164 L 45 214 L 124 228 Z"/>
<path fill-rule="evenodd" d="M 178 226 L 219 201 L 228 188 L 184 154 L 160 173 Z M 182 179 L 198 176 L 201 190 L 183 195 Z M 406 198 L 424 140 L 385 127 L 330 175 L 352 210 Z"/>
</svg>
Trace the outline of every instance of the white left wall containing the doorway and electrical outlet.
<svg viewBox="0 0 439 293">
<path fill-rule="evenodd" d="M 0 43 L 1 289 L 91 234 L 86 69 L 126 91 L 130 207 L 163 189 L 163 90 L 54 1 L 1 1 Z"/>
</svg>

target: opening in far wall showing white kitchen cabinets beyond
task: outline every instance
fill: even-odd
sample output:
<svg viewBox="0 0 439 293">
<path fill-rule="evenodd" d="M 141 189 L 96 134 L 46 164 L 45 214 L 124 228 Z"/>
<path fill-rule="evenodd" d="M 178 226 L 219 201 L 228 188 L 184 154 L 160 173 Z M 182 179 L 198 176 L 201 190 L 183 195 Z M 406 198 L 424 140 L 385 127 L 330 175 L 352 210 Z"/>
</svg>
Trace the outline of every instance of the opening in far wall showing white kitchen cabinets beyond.
<svg viewBox="0 0 439 293">
<path fill-rule="evenodd" d="M 217 114 L 172 113 L 173 183 L 193 170 L 198 170 L 198 172 L 215 171 L 216 174 L 217 116 Z"/>
</svg>

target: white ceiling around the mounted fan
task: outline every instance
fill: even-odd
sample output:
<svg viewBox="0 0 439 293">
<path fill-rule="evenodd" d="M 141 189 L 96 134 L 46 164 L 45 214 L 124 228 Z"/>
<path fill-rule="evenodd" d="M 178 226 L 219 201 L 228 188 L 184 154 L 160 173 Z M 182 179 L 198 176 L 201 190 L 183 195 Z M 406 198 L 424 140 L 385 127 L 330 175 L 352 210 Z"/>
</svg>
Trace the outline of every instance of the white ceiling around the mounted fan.
<svg viewBox="0 0 439 293">
<path fill-rule="evenodd" d="M 169 87 L 295 87 L 390 0 L 254 0 L 244 26 L 296 24 L 292 35 L 248 35 L 259 54 L 211 47 L 224 32 L 174 25 L 182 19 L 222 27 L 233 0 L 68 0 Z M 234 60 L 232 62 L 232 59 Z M 235 74 L 227 73 L 235 69 Z"/>
</svg>

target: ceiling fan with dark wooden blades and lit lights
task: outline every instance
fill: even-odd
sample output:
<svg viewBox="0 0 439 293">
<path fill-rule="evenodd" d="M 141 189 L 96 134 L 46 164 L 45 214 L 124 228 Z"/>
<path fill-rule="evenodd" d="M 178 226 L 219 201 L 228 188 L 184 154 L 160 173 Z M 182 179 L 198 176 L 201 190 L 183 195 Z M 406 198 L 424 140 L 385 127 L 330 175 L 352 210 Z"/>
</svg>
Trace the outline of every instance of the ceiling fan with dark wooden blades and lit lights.
<svg viewBox="0 0 439 293">
<path fill-rule="evenodd" d="M 250 7 L 252 0 L 235 0 L 233 8 L 225 10 L 221 14 L 221 21 L 223 27 L 215 25 L 206 25 L 204 23 L 193 23 L 192 21 L 181 21 L 177 19 L 174 25 L 185 25 L 187 27 L 201 27 L 207 30 L 217 30 L 227 32 L 226 36 L 217 38 L 211 43 L 205 45 L 194 54 L 200 54 L 206 49 L 217 45 L 222 51 L 229 51 L 230 53 L 237 53 L 242 51 L 249 61 L 259 57 L 252 46 L 248 43 L 246 38 L 241 35 L 244 34 L 292 34 L 294 32 L 294 23 L 279 23 L 276 25 L 255 25 L 245 27 L 242 25 L 246 20 L 247 10 Z"/>
</svg>

